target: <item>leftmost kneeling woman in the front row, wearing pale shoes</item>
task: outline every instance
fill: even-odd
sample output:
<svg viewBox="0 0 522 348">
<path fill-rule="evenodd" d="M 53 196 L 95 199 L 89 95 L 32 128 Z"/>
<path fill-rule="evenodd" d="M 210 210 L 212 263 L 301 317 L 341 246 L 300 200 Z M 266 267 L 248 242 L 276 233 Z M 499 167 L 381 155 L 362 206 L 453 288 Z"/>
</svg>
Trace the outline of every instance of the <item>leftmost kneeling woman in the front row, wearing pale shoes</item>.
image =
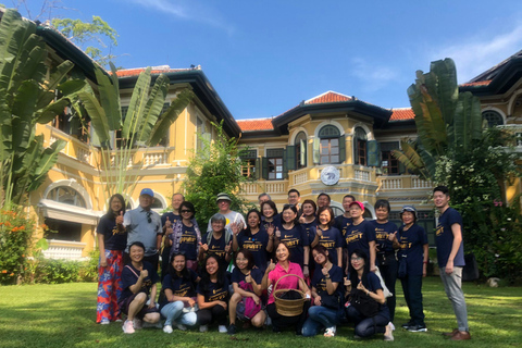
<svg viewBox="0 0 522 348">
<path fill-rule="evenodd" d="M 145 246 L 141 241 L 135 241 L 128 248 L 130 263 L 122 272 L 122 297 L 120 308 L 127 314 L 123 324 L 125 334 L 134 334 L 135 328 L 142 327 L 142 321 L 156 324 L 160 321 L 160 312 L 156 307 L 156 283 L 159 281 L 158 273 L 152 264 L 144 262 Z M 149 299 L 149 304 L 147 300 Z"/>
</svg>

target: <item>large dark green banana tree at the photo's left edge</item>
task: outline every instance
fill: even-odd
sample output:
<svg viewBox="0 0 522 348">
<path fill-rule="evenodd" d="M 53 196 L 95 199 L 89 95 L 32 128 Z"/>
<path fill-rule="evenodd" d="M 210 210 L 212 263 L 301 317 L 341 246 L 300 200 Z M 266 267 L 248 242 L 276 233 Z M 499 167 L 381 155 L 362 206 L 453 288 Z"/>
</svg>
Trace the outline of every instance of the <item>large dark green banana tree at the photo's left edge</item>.
<svg viewBox="0 0 522 348">
<path fill-rule="evenodd" d="M 85 85 L 67 79 L 74 66 L 70 61 L 48 76 L 47 55 L 36 24 L 7 10 L 0 22 L 1 206 L 25 204 L 27 192 L 44 183 L 65 144 L 59 140 L 45 148 L 36 124 L 62 113 L 69 96 Z"/>
</svg>

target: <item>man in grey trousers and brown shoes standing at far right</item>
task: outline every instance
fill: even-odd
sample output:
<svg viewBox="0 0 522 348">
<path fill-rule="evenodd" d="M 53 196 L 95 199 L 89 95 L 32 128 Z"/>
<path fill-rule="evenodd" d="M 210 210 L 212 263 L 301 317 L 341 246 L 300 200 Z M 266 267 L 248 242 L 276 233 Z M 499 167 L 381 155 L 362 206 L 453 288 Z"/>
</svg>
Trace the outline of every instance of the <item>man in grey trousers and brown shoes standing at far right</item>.
<svg viewBox="0 0 522 348">
<path fill-rule="evenodd" d="M 433 201 L 440 213 L 436 229 L 440 278 L 446 295 L 453 306 L 459 325 L 451 333 L 444 335 L 451 336 L 452 340 L 470 339 L 468 309 L 462 291 L 462 268 L 464 266 L 462 217 L 458 211 L 449 207 L 449 189 L 446 186 L 437 186 L 433 189 Z"/>
</svg>

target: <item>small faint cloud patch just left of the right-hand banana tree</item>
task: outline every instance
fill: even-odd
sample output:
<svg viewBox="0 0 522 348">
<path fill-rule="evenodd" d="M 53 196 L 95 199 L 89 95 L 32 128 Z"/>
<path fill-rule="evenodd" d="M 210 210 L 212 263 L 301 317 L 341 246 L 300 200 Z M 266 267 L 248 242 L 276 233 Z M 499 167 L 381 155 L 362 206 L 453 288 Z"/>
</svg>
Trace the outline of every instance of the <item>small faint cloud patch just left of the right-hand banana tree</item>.
<svg viewBox="0 0 522 348">
<path fill-rule="evenodd" d="M 390 66 L 377 65 L 361 58 L 352 60 L 351 74 L 360 79 L 360 86 L 365 92 L 383 89 L 399 76 Z"/>
</svg>

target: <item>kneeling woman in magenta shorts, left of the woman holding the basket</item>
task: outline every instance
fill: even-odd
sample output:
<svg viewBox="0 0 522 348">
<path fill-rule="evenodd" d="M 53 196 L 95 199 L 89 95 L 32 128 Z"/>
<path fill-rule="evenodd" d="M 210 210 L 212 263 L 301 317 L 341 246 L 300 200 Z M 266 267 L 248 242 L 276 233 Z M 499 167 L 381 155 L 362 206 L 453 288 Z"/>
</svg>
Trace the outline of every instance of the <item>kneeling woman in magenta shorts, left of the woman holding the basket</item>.
<svg viewBox="0 0 522 348">
<path fill-rule="evenodd" d="M 228 302 L 231 319 L 228 335 L 236 334 L 236 316 L 245 321 L 250 320 L 256 327 L 262 327 L 266 320 L 261 301 L 263 272 L 253 269 L 253 256 L 247 249 L 239 249 L 235 265 L 236 268 L 232 272 L 234 295 Z M 241 306 L 238 306 L 238 303 L 241 303 Z"/>
</svg>

